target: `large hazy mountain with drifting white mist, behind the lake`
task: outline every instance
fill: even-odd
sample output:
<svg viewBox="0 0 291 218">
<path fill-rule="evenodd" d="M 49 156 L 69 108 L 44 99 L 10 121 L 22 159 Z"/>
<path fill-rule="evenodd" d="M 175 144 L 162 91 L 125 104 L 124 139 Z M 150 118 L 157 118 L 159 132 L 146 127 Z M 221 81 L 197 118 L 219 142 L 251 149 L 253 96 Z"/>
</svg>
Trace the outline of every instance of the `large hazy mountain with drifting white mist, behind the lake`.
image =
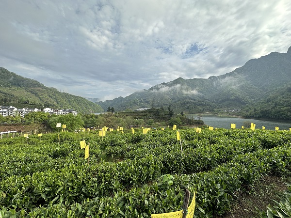
<svg viewBox="0 0 291 218">
<path fill-rule="evenodd" d="M 171 106 L 176 112 L 206 112 L 256 105 L 287 84 L 291 84 L 291 47 L 287 53 L 272 52 L 249 60 L 225 75 L 207 79 L 177 78 L 124 98 L 97 103 L 104 110 L 108 107 L 124 110 Z"/>
</svg>

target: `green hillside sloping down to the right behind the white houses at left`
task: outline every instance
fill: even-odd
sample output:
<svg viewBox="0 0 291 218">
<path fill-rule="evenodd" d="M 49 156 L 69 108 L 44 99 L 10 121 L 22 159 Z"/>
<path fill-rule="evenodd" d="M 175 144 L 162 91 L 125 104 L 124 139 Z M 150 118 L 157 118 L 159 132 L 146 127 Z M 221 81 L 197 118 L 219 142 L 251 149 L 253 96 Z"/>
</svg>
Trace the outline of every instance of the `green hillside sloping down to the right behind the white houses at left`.
<svg viewBox="0 0 291 218">
<path fill-rule="evenodd" d="M 21 77 L 0 67 L 0 105 L 30 108 L 23 102 L 53 109 L 74 109 L 77 112 L 103 111 L 99 105 L 83 97 L 61 93 L 34 79 Z"/>
</svg>

